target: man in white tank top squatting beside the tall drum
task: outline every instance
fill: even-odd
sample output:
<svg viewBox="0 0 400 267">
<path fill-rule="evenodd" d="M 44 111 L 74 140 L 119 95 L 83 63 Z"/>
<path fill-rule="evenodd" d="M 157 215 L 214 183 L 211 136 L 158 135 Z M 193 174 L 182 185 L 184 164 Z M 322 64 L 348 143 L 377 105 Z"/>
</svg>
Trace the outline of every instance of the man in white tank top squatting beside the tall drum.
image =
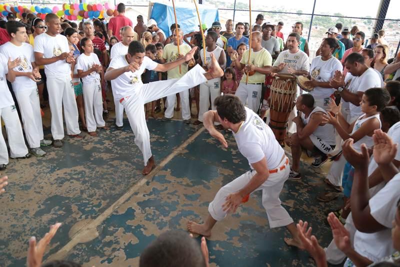
<svg viewBox="0 0 400 267">
<path fill-rule="evenodd" d="M 306 150 L 308 156 L 315 157 L 312 167 L 319 167 L 328 159 L 327 154 L 333 151 L 335 129 L 331 124 L 322 123 L 322 117 L 327 114 L 320 107 L 314 107 L 314 98 L 310 94 L 302 94 L 296 100 L 299 111 L 292 122 L 296 124 L 296 133 L 286 142 L 291 149 L 292 164 L 289 179 L 301 179 L 300 156 Z"/>
</svg>

